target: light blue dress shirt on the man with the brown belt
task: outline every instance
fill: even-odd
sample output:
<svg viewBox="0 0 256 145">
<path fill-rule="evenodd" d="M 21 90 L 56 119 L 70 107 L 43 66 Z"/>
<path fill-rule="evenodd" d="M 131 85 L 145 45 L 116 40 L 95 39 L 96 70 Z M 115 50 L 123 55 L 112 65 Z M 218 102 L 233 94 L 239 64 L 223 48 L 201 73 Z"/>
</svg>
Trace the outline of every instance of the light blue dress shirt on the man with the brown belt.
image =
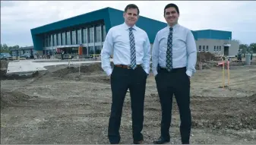
<svg viewBox="0 0 256 145">
<path fill-rule="evenodd" d="M 103 49 L 101 50 L 102 68 L 109 76 L 112 74 L 110 55 L 113 56 L 114 65 L 131 65 L 131 48 L 127 24 L 112 27 L 106 35 Z M 142 65 L 144 71 L 150 71 L 150 40 L 147 33 L 134 25 L 136 64 Z"/>
</svg>

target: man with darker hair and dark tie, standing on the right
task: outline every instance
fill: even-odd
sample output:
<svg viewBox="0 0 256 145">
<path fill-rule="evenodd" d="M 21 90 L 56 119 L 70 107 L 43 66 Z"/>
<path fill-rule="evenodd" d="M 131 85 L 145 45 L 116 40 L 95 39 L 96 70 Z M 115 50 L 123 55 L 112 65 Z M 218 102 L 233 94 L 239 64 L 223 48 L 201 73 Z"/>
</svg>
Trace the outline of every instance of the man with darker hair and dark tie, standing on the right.
<svg viewBox="0 0 256 145">
<path fill-rule="evenodd" d="M 172 96 L 178 103 L 182 143 L 189 143 L 191 133 L 190 77 L 195 72 L 197 49 L 191 30 L 178 24 L 179 8 L 166 5 L 168 26 L 156 33 L 152 49 L 152 70 L 162 109 L 161 136 L 155 144 L 169 142 Z"/>
</svg>

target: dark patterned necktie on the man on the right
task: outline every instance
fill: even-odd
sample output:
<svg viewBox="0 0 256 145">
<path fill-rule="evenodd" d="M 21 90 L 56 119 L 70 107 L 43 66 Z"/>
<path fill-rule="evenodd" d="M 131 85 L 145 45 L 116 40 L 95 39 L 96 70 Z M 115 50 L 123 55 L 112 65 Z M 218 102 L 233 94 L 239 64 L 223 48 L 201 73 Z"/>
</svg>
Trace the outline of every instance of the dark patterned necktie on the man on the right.
<svg viewBox="0 0 256 145">
<path fill-rule="evenodd" d="M 169 28 L 169 36 L 167 41 L 166 69 L 167 71 L 172 70 L 172 27 Z"/>
</svg>

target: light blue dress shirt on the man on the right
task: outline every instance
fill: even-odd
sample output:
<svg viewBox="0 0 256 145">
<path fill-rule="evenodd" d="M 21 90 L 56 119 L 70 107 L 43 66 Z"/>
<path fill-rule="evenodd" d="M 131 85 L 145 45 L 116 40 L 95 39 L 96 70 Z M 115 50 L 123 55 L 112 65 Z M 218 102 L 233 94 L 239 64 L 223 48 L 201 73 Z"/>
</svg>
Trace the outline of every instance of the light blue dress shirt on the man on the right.
<svg viewBox="0 0 256 145">
<path fill-rule="evenodd" d="M 195 72 L 197 48 L 191 30 L 175 24 L 172 31 L 172 68 L 186 67 L 186 74 L 191 77 Z M 166 50 L 169 26 L 156 33 L 152 49 L 152 71 L 157 74 L 157 65 L 166 68 Z"/>
</svg>

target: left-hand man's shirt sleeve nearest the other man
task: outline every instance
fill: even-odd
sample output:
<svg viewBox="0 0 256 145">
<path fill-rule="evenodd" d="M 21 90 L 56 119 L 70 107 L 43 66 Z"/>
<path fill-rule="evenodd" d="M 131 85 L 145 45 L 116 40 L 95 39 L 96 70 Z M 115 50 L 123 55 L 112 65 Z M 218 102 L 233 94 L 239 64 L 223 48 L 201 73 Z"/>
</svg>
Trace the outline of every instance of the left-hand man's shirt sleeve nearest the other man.
<svg viewBox="0 0 256 145">
<path fill-rule="evenodd" d="M 146 34 L 146 42 L 144 43 L 144 57 L 142 58 L 144 64 L 144 71 L 149 74 L 150 73 L 150 39 Z"/>
</svg>

